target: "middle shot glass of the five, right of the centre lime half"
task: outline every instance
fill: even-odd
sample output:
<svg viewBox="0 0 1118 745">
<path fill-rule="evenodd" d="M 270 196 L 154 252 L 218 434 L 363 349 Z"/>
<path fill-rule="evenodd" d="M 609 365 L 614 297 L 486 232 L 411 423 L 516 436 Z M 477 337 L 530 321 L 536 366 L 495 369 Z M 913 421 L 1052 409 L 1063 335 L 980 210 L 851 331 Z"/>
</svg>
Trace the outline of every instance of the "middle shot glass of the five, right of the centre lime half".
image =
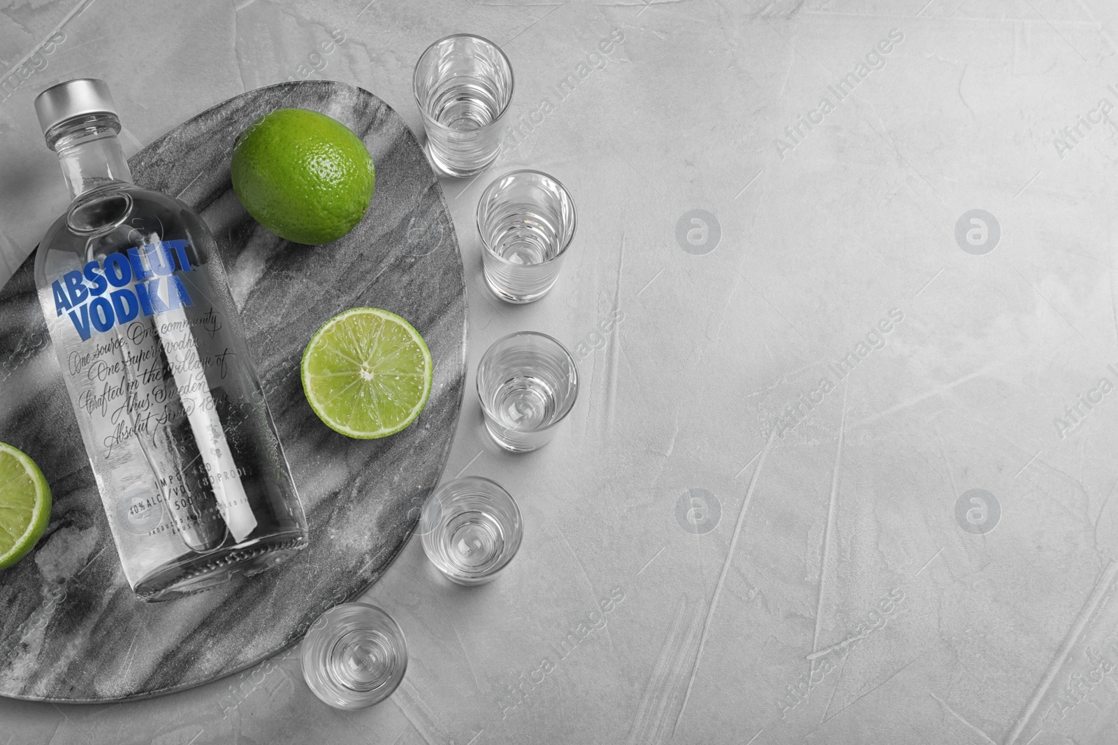
<svg viewBox="0 0 1118 745">
<path fill-rule="evenodd" d="M 547 334 L 517 332 L 493 343 L 477 364 L 477 397 L 493 440 L 513 452 L 537 450 L 578 398 L 578 366 Z"/>
</svg>

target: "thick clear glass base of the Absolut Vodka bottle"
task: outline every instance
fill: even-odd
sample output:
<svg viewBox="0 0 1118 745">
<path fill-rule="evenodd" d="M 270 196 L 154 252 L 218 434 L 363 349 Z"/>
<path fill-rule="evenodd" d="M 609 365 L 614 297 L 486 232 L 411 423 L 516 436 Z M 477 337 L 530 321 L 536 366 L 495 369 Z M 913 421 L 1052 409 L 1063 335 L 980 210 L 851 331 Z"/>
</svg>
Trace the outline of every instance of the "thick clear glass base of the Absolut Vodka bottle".
<svg viewBox="0 0 1118 745">
<path fill-rule="evenodd" d="M 141 600 L 159 602 L 192 595 L 236 576 L 253 576 L 306 547 L 306 533 L 288 531 L 267 538 L 183 556 L 157 569 L 133 588 Z"/>
</svg>

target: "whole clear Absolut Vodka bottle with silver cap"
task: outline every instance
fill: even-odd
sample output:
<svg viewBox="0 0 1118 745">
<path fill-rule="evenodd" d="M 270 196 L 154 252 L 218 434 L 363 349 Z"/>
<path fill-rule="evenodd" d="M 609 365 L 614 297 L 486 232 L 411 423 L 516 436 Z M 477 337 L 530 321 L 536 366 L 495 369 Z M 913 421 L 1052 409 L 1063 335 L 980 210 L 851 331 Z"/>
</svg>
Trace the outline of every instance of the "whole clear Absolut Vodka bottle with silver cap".
<svg viewBox="0 0 1118 745">
<path fill-rule="evenodd" d="M 35 107 L 73 199 L 39 243 L 39 303 L 129 583 L 167 600 L 283 561 L 306 518 L 212 236 L 132 183 L 102 80 Z"/>
</svg>

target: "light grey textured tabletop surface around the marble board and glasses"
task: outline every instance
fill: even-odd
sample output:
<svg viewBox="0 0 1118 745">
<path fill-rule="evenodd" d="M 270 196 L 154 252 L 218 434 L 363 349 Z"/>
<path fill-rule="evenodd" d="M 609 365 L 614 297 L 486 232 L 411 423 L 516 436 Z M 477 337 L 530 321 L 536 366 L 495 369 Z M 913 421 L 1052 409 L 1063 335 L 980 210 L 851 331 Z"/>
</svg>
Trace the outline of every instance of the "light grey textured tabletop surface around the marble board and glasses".
<svg viewBox="0 0 1118 745">
<path fill-rule="evenodd" d="M 471 366 L 532 328 L 584 381 L 525 456 L 467 393 L 445 477 L 503 483 L 524 543 L 466 590 L 411 542 L 368 593 L 408 636 L 389 701 L 325 707 L 293 650 L 142 703 L 0 700 L 0 745 L 1116 742 L 1116 25 L 1103 0 L 0 3 L 0 278 L 65 207 L 31 108 L 55 82 L 108 80 L 130 153 L 303 76 L 418 131 L 420 51 L 494 39 L 518 134 L 444 184 Z M 580 225 L 512 307 L 473 210 L 522 166 Z"/>
</svg>

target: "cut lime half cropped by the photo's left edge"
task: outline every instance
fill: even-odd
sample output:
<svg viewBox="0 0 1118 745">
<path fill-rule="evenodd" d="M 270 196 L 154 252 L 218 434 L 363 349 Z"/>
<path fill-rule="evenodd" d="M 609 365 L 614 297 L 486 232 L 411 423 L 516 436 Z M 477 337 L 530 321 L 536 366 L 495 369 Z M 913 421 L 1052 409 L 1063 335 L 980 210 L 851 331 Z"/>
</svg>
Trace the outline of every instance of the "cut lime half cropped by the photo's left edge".
<svg viewBox="0 0 1118 745">
<path fill-rule="evenodd" d="M 0 442 L 0 570 L 35 547 L 50 520 L 50 487 L 26 453 Z"/>
</svg>

